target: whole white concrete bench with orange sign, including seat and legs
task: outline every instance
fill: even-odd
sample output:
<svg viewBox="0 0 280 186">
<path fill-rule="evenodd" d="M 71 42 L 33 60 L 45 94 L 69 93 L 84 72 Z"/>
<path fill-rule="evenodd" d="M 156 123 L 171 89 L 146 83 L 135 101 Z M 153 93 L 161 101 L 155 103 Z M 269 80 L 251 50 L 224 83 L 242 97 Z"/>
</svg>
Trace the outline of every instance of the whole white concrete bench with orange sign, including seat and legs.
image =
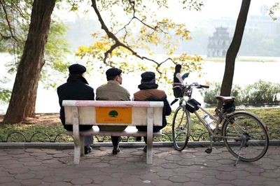
<svg viewBox="0 0 280 186">
<path fill-rule="evenodd" d="M 146 136 L 146 163 L 153 163 L 153 125 L 162 125 L 163 101 L 62 101 L 65 123 L 73 124 L 74 163 L 79 164 L 84 155 L 84 136 Z M 92 127 L 79 131 L 79 124 L 90 125 L 127 125 L 125 131 L 99 131 Z M 138 131 L 132 126 L 147 126 L 147 131 Z"/>
</svg>

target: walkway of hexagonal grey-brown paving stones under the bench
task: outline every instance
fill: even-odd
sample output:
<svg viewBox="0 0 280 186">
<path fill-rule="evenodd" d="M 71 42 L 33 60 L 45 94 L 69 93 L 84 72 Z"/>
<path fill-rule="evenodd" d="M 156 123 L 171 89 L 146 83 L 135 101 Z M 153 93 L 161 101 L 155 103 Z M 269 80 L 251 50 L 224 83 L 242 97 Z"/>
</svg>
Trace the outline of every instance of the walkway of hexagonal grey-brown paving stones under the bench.
<svg viewBox="0 0 280 186">
<path fill-rule="evenodd" d="M 279 185 L 280 147 L 258 162 L 239 162 L 225 148 L 182 152 L 154 148 L 153 165 L 142 148 L 95 148 L 73 164 L 73 149 L 0 149 L 0 185 Z"/>
</svg>

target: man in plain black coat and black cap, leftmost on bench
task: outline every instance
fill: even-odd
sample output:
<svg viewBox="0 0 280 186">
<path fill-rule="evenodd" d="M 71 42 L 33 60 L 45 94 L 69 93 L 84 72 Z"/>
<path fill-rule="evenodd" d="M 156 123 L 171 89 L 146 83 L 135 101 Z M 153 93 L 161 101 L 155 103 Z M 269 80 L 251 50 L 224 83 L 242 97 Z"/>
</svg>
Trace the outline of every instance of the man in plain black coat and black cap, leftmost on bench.
<svg viewBox="0 0 280 186">
<path fill-rule="evenodd" d="M 87 69 L 80 64 L 72 64 L 69 66 L 69 78 L 63 85 L 57 87 L 57 94 L 60 106 L 60 120 L 64 129 L 73 131 L 73 126 L 65 124 L 64 107 L 62 106 L 63 100 L 94 100 L 94 90 L 87 83 L 83 77 Z M 92 125 L 80 125 L 80 131 L 91 129 Z M 85 154 L 90 152 L 90 144 L 92 143 L 92 136 L 85 136 Z"/>
</svg>

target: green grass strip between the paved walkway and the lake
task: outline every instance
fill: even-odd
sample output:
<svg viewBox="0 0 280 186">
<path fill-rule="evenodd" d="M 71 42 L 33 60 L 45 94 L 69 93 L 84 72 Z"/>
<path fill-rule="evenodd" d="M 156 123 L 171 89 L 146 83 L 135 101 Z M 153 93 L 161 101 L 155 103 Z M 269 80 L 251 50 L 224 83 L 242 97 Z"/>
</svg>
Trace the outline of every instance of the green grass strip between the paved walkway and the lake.
<svg viewBox="0 0 280 186">
<path fill-rule="evenodd" d="M 211 113 L 214 113 L 214 109 L 209 109 Z M 255 115 L 258 115 L 260 119 L 269 127 L 269 138 L 280 140 L 280 108 L 246 108 Z M 160 139 L 155 141 L 170 141 L 169 137 L 172 137 L 172 115 L 167 116 L 167 127 L 162 130 L 164 135 Z M 193 120 L 193 138 L 197 140 L 201 134 L 206 132 L 202 124 L 200 124 L 192 114 Z M 204 138 L 208 138 L 206 133 Z M 100 139 L 100 138 L 99 138 Z M 97 138 L 94 138 L 97 141 Z M 109 138 L 105 138 L 108 141 Z M 190 139 L 193 141 L 193 139 Z M 0 142 L 72 142 L 71 136 L 65 133 L 62 124 L 3 124 L 0 130 Z M 130 140 L 131 141 L 131 140 Z"/>
</svg>

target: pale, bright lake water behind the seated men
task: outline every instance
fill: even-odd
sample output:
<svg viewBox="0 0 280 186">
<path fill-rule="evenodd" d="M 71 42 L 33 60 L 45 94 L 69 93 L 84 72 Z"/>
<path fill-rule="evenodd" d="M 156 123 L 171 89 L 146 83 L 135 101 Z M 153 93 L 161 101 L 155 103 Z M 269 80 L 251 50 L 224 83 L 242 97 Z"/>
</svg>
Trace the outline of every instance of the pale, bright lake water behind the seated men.
<svg viewBox="0 0 280 186">
<path fill-rule="evenodd" d="M 264 58 L 264 57 L 262 57 Z M 280 69 L 280 58 L 279 57 L 268 57 L 273 59 L 274 62 L 236 62 L 235 64 L 235 76 L 233 79 L 233 84 L 239 85 L 248 85 L 255 83 L 258 80 L 270 81 L 272 83 L 280 83 L 279 69 Z M 0 74 L 1 78 L 3 76 L 7 76 L 10 78 L 9 83 L 0 83 L 1 87 L 8 87 L 10 89 L 13 88 L 14 76 L 10 76 L 6 73 L 6 67 L 4 64 L 12 59 L 10 55 L 1 54 L 0 53 Z M 221 82 L 223 80 L 223 71 L 225 69 L 224 62 L 204 62 L 201 78 L 198 77 L 197 73 L 190 73 L 190 76 L 186 79 L 188 83 L 197 82 L 200 84 L 204 84 L 206 81 L 210 82 Z M 94 90 L 99 85 L 102 85 L 106 82 L 106 77 L 104 75 L 102 82 L 96 81 L 99 79 L 97 77 L 89 77 L 87 78 L 88 82 Z M 140 83 L 139 73 L 137 75 L 123 75 L 123 87 L 130 91 L 130 94 L 138 91 L 137 86 Z M 65 80 L 66 81 L 66 80 Z M 162 88 L 162 87 L 160 87 Z M 167 92 L 167 90 L 165 90 Z M 172 93 L 172 91 L 169 91 Z M 199 92 L 194 93 L 194 98 L 197 101 L 203 102 L 203 98 Z M 173 100 L 173 96 L 169 95 L 169 101 Z M 178 104 L 178 103 L 177 103 Z M 176 104 L 172 106 L 172 108 L 176 108 Z M 6 113 L 6 109 L 8 104 L 0 104 L 0 113 Z M 38 86 L 38 94 L 36 100 L 36 113 L 58 113 L 59 112 L 59 104 L 56 90 L 51 89 L 45 90 L 43 89 L 43 85 L 39 83 Z"/>
</svg>

